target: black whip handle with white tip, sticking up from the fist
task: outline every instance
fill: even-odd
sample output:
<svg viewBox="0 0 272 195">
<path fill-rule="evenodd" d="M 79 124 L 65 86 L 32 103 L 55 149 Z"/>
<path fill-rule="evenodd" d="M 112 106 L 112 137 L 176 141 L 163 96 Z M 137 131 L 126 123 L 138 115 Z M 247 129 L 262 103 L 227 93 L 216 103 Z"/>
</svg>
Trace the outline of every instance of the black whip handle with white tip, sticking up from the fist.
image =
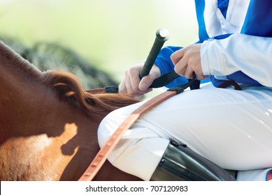
<svg viewBox="0 0 272 195">
<path fill-rule="evenodd" d="M 143 65 L 143 69 L 140 72 L 140 79 L 149 75 L 152 66 L 154 65 L 155 60 L 159 52 L 161 51 L 161 47 L 163 47 L 164 42 L 169 38 L 169 31 L 167 29 L 158 29 L 156 32 L 156 39 L 154 40 L 153 46 L 150 50 L 150 54 L 148 54 L 145 64 Z"/>
</svg>

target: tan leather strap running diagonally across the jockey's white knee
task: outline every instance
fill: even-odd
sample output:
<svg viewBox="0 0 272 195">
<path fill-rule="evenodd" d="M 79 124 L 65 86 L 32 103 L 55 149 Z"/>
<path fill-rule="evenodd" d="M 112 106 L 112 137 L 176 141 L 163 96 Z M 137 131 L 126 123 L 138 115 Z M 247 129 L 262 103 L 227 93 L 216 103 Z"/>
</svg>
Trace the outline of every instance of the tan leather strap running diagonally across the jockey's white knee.
<svg viewBox="0 0 272 195">
<path fill-rule="evenodd" d="M 93 91 L 92 91 L 93 93 Z M 99 150 L 93 162 L 90 163 L 86 171 L 83 173 L 79 181 L 91 181 L 96 176 L 99 169 L 101 169 L 102 165 L 106 161 L 107 157 L 113 150 L 113 148 L 117 145 L 117 143 L 122 138 L 122 135 L 131 127 L 131 125 L 142 115 L 145 111 L 148 111 L 152 107 L 155 107 L 157 104 L 167 100 L 168 98 L 176 95 L 177 91 L 166 91 L 163 92 L 156 97 L 145 102 L 141 107 L 138 107 L 135 111 L 133 111 L 127 118 L 121 123 L 121 125 L 115 130 L 115 132 L 111 135 L 106 144 Z"/>
</svg>

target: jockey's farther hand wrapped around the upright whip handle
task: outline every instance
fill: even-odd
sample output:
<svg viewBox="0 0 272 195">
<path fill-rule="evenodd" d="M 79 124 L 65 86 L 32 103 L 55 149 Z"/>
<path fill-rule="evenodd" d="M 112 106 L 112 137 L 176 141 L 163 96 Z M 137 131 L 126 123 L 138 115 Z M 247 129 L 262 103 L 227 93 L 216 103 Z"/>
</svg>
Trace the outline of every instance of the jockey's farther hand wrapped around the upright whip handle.
<svg viewBox="0 0 272 195">
<path fill-rule="evenodd" d="M 161 70 L 157 65 L 153 65 L 150 74 L 140 80 L 139 74 L 143 65 L 144 62 L 138 63 L 125 72 L 125 78 L 119 85 L 119 93 L 128 93 L 130 96 L 136 97 L 152 91 L 152 88 L 149 87 L 154 79 L 161 76 Z"/>
</svg>

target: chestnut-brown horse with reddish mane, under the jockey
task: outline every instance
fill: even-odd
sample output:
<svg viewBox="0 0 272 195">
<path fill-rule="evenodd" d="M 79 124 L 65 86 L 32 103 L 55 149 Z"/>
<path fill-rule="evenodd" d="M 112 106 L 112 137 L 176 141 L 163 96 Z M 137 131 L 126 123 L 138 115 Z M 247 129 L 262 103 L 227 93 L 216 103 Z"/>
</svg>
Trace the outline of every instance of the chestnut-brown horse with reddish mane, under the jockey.
<svg viewBox="0 0 272 195">
<path fill-rule="evenodd" d="M 78 180 L 102 118 L 135 102 L 87 93 L 72 73 L 42 72 L 0 42 L 0 180 Z M 139 179 L 106 162 L 95 180 Z"/>
</svg>

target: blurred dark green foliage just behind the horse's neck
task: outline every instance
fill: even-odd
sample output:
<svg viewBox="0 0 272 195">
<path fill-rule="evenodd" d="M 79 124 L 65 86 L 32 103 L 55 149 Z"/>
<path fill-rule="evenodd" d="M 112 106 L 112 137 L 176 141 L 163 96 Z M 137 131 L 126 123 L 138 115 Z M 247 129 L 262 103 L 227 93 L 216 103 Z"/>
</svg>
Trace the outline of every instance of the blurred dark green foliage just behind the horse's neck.
<svg viewBox="0 0 272 195">
<path fill-rule="evenodd" d="M 37 42 L 31 47 L 27 47 L 16 40 L 8 38 L 1 40 L 4 40 L 24 59 L 42 70 L 61 68 L 73 72 L 81 79 L 85 89 L 118 85 L 106 72 L 95 68 L 72 49 L 49 42 Z"/>
</svg>

